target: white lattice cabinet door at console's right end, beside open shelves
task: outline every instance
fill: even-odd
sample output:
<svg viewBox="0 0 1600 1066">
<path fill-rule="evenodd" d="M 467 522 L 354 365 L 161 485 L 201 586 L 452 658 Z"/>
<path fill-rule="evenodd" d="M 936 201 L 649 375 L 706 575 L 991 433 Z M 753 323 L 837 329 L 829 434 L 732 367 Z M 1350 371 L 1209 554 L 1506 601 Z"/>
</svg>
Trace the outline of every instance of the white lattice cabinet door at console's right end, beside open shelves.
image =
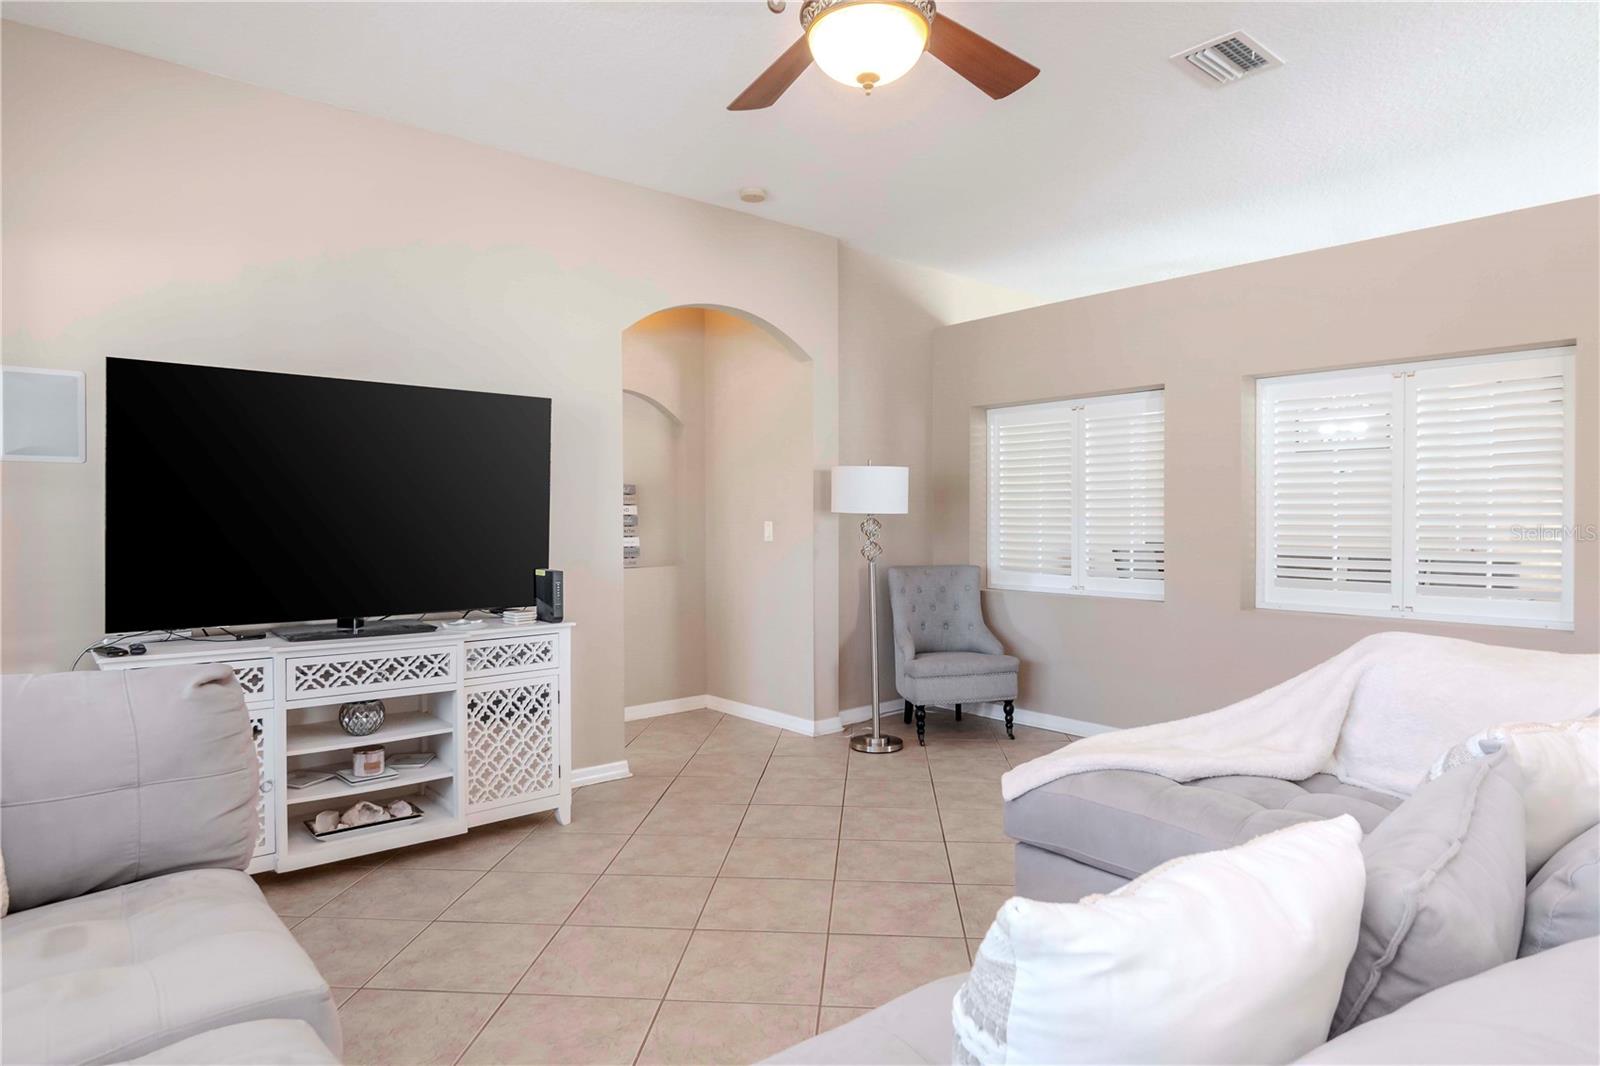
<svg viewBox="0 0 1600 1066">
<path fill-rule="evenodd" d="M 467 813 L 560 791 L 557 675 L 478 682 L 466 695 Z"/>
</svg>

